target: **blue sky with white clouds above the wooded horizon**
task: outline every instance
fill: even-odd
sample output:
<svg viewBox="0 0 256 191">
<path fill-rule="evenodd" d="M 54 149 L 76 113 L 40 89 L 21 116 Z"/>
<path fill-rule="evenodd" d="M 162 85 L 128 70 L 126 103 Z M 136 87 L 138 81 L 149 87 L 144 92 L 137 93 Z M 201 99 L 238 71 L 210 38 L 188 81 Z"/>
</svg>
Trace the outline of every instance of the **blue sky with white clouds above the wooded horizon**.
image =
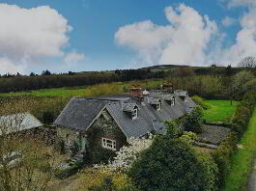
<svg viewBox="0 0 256 191">
<path fill-rule="evenodd" d="M 0 0 L 0 74 L 256 56 L 256 0 Z"/>
</svg>

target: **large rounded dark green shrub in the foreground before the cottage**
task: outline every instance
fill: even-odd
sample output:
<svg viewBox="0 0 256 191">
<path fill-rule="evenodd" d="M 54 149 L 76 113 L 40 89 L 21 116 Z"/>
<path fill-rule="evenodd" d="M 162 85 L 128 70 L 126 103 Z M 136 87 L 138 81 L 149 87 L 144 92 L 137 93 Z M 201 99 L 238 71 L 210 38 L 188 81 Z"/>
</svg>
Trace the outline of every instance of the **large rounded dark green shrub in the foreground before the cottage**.
<svg viewBox="0 0 256 191">
<path fill-rule="evenodd" d="M 210 155 L 197 156 L 179 139 L 157 137 L 128 171 L 141 190 L 213 191 L 217 168 Z"/>
</svg>

